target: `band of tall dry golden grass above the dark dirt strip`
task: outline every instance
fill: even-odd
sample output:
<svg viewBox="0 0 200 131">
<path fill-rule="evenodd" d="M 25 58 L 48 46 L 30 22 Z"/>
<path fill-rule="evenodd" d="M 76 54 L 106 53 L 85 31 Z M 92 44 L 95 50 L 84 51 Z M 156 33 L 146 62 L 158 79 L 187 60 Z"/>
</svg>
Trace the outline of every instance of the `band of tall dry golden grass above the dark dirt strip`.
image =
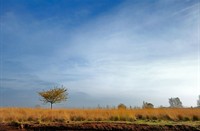
<svg viewBox="0 0 200 131">
<path fill-rule="evenodd" d="M 200 121 L 200 109 L 34 109 L 0 108 L 0 122 Z"/>
</svg>

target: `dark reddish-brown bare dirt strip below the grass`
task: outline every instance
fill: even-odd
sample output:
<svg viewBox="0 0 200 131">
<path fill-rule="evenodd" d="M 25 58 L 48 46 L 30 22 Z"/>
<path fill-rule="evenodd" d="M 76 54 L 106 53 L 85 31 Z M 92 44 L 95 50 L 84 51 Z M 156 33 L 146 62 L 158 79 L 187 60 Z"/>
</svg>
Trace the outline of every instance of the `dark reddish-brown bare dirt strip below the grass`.
<svg viewBox="0 0 200 131">
<path fill-rule="evenodd" d="M 128 123 L 69 123 L 69 124 L 3 124 L 0 123 L 0 131 L 200 131 L 199 127 L 188 125 L 147 125 Z"/>
</svg>

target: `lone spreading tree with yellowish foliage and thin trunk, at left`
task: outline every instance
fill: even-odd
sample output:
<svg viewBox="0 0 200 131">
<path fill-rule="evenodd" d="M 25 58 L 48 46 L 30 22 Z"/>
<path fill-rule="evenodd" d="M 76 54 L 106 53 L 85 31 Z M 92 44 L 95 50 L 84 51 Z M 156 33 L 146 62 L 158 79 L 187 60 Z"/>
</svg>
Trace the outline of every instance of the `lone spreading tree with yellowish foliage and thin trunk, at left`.
<svg viewBox="0 0 200 131">
<path fill-rule="evenodd" d="M 54 87 L 47 91 L 41 91 L 38 92 L 38 94 L 42 97 L 41 101 L 51 104 L 51 109 L 54 103 L 60 103 L 68 99 L 67 89 L 63 86 L 60 88 Z"/>
</svg>

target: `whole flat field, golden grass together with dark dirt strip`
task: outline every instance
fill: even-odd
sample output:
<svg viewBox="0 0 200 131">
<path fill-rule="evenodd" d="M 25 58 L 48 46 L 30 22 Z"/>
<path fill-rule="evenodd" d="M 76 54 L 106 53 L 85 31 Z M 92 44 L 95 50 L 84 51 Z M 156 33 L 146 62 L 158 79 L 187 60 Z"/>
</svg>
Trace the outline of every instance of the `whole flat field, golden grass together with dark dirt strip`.
<svg viewBox="0 0 200 131">
<path fill-rule="evenodd" d="M 0 108 L 0 130 L 200 130 L 200 109 Z"/>
</svg>

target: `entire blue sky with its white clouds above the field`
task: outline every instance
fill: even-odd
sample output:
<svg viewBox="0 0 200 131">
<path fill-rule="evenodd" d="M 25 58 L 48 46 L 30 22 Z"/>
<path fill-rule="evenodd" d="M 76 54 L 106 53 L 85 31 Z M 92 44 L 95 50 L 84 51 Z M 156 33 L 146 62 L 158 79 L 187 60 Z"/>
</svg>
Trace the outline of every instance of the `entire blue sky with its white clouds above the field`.
<svg viewBox="0 0 200 131">
<path fill-rule="evenodd" d="M 200 94 L 198 0 L 1 0 L 0 106 L 168 106 Z"/>
</svg>

